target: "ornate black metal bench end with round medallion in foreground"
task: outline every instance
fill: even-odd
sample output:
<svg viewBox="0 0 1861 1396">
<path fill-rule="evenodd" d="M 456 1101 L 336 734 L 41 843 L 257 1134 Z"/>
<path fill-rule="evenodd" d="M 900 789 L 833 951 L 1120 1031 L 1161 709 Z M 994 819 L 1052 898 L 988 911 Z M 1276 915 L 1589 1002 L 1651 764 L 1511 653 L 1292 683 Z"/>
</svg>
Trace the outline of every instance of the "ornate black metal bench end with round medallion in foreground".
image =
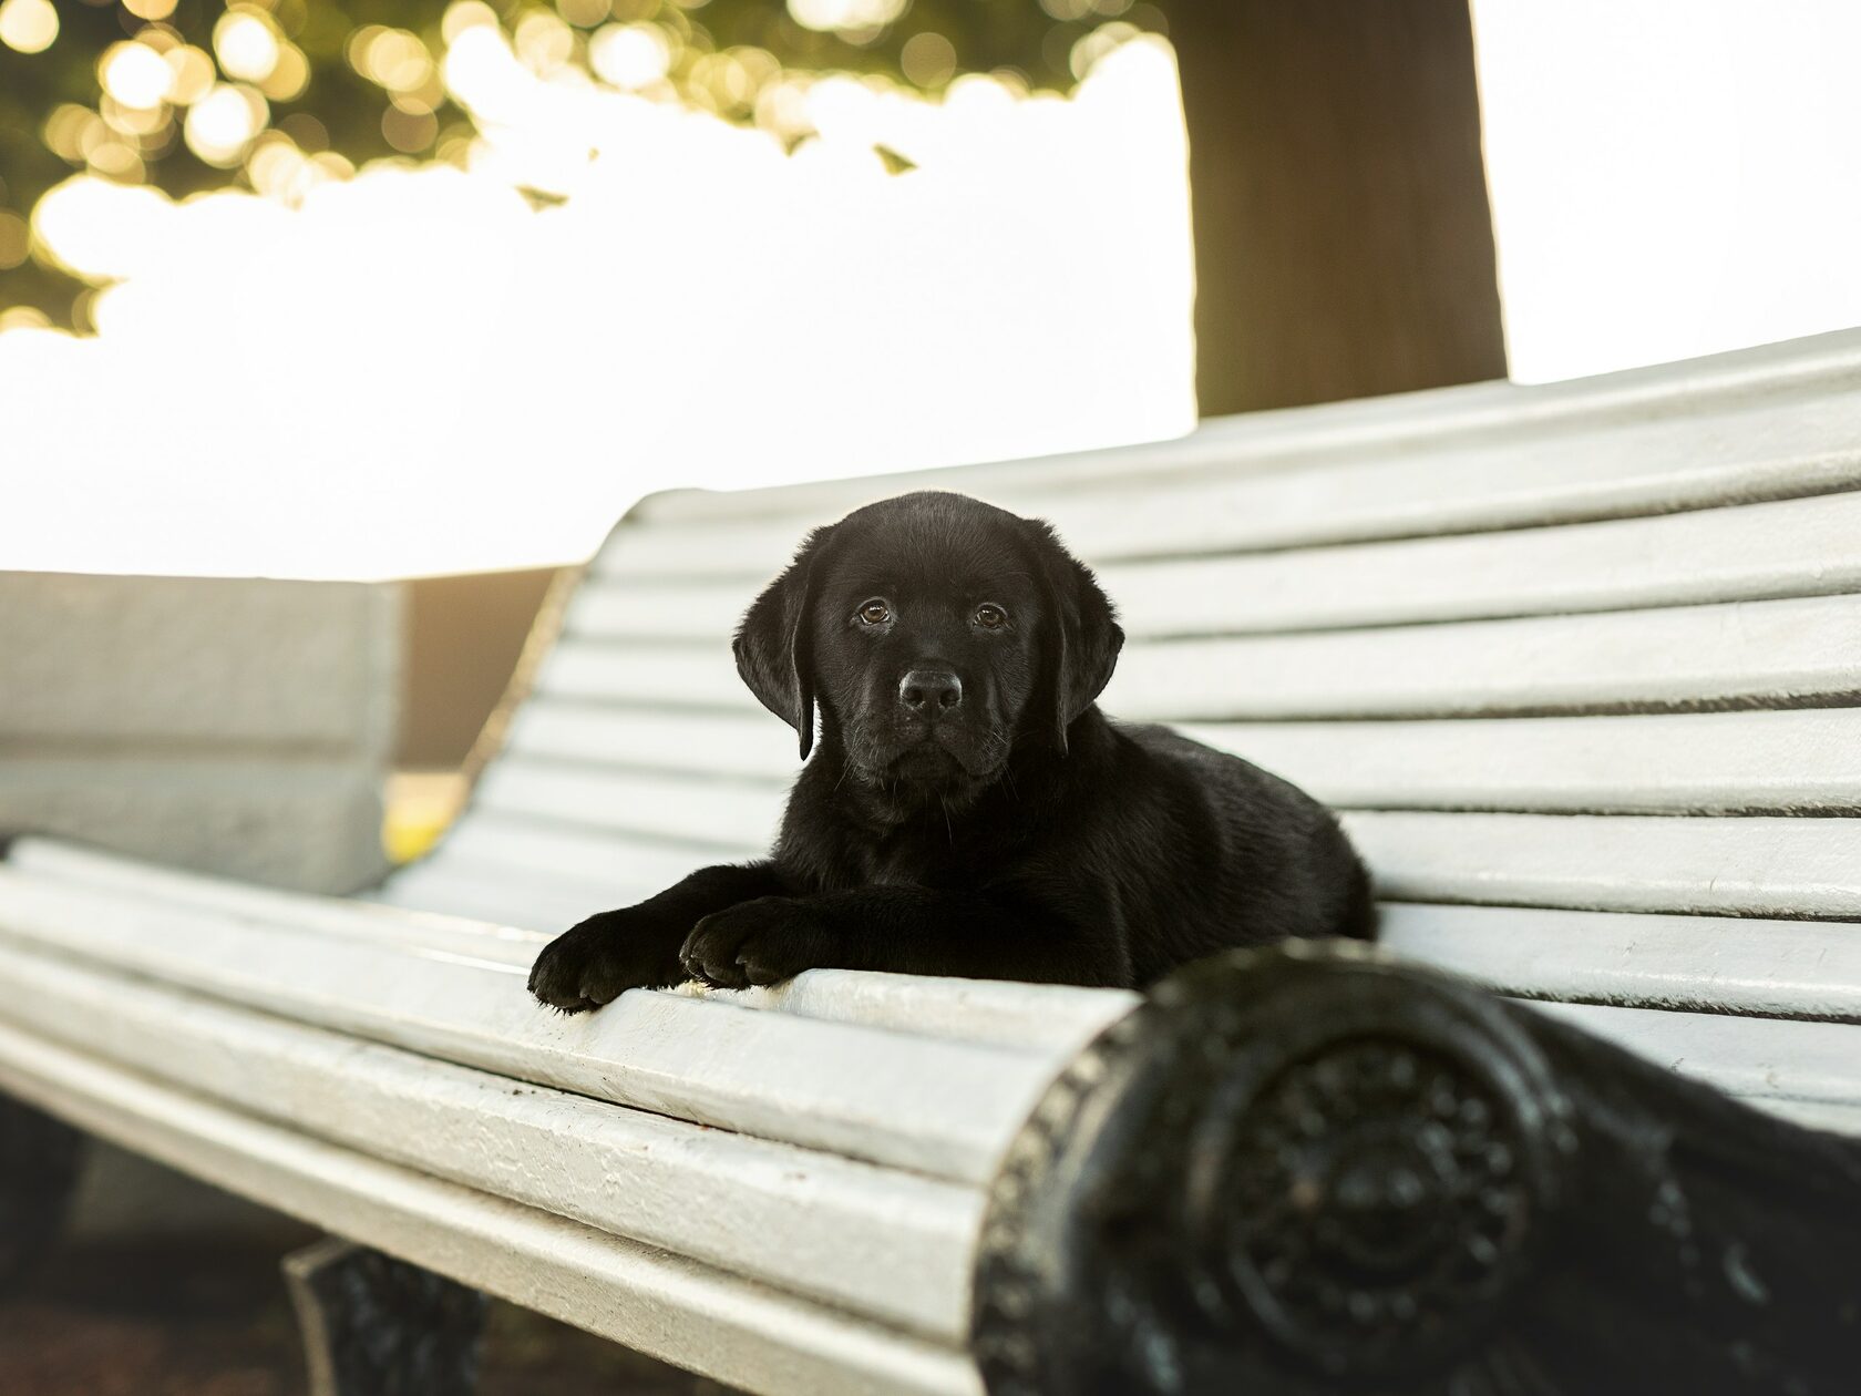
<svg viewBox="0 0 1861 1396">
<path fill-rule="evenodd" d="M 1861 1141 L 1368 949 L 1208 960 L 1061 1076 L 990 1396 L 1852 1396 Z"/>
</svg>

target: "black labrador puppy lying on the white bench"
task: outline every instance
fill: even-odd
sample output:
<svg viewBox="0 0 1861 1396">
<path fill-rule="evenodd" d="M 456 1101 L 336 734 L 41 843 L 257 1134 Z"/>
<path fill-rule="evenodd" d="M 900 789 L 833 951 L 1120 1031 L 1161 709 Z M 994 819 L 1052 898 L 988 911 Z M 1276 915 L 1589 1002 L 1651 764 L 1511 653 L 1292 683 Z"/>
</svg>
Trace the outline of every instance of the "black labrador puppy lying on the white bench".
<svg viewBox="0 0 1861 1396">
<path fill-rule="evenodd" d="M 530 990 L 743 988 L 815 966 L 1146 985 L 1284 936 L 1372 934 L 1331 813 L 1094 700 L 1124 633 L 1038 519 L 914 493 L 817 529 L 737 631 L 808 761 L 769 858 L 555 940 Z"/>
</svg>

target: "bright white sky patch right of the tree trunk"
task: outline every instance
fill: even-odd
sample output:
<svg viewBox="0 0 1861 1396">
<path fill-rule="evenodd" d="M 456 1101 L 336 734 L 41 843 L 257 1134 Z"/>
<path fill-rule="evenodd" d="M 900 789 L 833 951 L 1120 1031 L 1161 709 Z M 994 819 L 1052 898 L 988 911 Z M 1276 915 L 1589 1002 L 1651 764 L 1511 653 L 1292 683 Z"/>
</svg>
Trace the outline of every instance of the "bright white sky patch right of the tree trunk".
<svg viewBox="0 0 1861 1396">
<path fill-rule="evenodd" d="M 1513 378 L 1861 324 L 1861 2 L 1472 4 Z"/>
</svg>

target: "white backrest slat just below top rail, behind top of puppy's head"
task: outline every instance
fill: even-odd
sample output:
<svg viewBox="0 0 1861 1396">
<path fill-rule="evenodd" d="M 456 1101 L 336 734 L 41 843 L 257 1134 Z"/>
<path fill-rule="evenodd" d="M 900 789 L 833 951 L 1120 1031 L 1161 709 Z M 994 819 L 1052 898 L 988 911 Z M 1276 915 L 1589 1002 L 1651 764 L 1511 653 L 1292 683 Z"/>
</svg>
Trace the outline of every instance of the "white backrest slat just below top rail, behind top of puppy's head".
<svg viewBox="0 0 1861 1396">
<path fill-rule="evenodd" d="M 1753 409 L 1612 423 L 1606 432 L 1470 437 L 1405 456 L 1368 443 L 1323 460 L 1293 452 L 1182 480 L 1133 469 L 1105 488 L 1022 488 L 1012 475 L 953 477 L 957 488 L 1020 514 L 1048 517 L 1083 557 L 1117 562 L 1239 553 L 1375 538 L 1418 538 L 1552 523 L 1673 514 L 1861 488 L 1854 423 L 1861 395 Z M 1297 469 L 1290 465 L 1297 463 Z M 752 517 L 692 527 L 622 523 L 596 558 L 603 577 L 772 575 L 806 527 L 914 488 L 858 480 L 839 501 L 778 514 L 780 495 L 746 499 Z M 921 486 L 916 486 L 921 488 Z M 663 517 L 663 516 L 661 516 Z"/>
</svg>

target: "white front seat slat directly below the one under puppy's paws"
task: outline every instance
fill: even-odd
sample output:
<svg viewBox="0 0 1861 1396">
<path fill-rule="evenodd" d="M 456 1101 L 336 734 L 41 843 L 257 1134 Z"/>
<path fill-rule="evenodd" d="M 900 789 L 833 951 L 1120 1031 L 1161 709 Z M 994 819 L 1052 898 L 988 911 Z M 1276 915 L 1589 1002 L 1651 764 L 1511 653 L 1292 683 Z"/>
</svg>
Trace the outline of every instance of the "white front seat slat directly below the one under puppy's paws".
<svg viewBox="0 0 1861 1396">
<path fill-rule="evenodd" d="M 929 1336 L 968 1329 L 977 1189 L 614 1109 L 0 940 L 0 1016 L 391 1163 Z"/>
</svg>

